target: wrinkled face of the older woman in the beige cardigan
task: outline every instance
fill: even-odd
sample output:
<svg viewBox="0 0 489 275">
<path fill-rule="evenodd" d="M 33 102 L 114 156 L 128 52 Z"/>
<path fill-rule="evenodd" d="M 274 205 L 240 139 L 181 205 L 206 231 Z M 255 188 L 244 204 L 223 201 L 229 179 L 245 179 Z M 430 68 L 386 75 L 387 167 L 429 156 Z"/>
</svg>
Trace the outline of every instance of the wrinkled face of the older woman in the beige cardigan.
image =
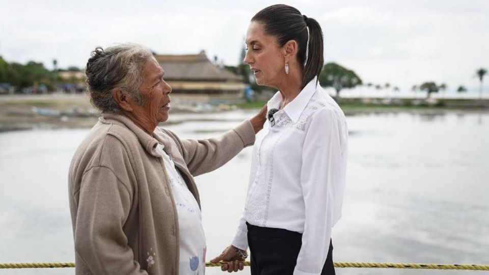
<svg viewBox="0 0 489 275">
<path fill-rule="evenodd" d="M 133 105 L 132 114 L 139 120 L 157 125 L 168 120 L 172 87 L 163 80 L 165 71 L 151 57 L 143 66 L 143 83 L 138 90 L 143 96 L 143 105 Z"/>
</svg>

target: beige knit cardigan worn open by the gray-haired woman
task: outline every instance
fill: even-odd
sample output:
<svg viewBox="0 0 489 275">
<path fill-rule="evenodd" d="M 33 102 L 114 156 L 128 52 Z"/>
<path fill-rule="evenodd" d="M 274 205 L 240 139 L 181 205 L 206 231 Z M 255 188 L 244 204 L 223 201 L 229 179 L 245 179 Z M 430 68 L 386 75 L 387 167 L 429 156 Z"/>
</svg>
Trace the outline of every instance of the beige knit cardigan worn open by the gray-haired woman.
<svg viewBox="0 0 489 275">
<path fill-rule="evenodd" d="M 177 211 L 153 147 L 165 145 L 200 206 L 194 176 L 255 142 L 250 121 L 217 139 L 180 140 L 164 129 L 153 136 L 125 116 L 103 114 L 76 150 L 68 177 L 76 274 L 177 275 Z"/>
</svg>

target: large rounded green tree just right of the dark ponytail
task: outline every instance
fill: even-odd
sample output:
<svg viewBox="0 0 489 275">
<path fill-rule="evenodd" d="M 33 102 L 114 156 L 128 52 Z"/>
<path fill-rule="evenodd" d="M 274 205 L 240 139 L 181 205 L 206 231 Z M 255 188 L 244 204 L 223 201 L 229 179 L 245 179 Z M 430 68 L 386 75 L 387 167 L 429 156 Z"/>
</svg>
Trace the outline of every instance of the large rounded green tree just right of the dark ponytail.
<svg viewBox="0 0 489 275">
<path fill-rule="evenodd" d="M 319 75 L 319 84 L 323 87 L 334 88 L 336 97 L 339 97 L 341 90 L 362 85 L 362 79 L 352 70 L 348 70 L 336 63 L 327 63 Z"/>
</svg>

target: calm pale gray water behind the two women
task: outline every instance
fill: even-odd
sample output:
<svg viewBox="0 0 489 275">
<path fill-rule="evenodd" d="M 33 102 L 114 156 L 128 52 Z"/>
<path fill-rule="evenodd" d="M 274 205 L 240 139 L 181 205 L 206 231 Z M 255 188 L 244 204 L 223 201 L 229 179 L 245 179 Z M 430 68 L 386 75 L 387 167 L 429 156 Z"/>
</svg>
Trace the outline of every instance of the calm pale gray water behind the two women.
<svg viewBox="0 0 489 275">
<path fill-rule="evenodd" d="M 168 128 L 180 137 L 210 137 L 252 114 L 172 115 L 170 120 L 185 122 Z M 489 264 L 489 113 L 369 114 L 347 121 L 348 178 L 343 218 L 333 229 L 334 260 Z M 0 262 L 73 261 L 66 179 L 87 132 L 0 133 Z M 220 170 L 196 178 L 208 259 L 232 239 L 250 158 L 247 148 Z M 0 269 L 0 274 L 73 273 Z M 337 274 L 481 273 L 337 269 Z"/>
</svg>

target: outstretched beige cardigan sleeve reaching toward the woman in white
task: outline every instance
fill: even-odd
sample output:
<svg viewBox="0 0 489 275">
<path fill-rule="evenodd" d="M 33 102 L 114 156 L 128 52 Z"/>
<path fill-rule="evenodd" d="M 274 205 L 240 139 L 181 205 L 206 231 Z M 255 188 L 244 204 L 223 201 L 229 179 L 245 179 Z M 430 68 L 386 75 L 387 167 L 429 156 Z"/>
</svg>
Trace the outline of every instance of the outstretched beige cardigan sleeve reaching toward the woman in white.
<svg viewBox="0 0 489 275">
<path fill-rule="evenodd" d="M 255 131 L 249 120 L 220 137 L 207 140 L 181 140 L 183 158 L 193 176 L 223 166 L 243 148 L 255 143 Z"/>
</svg>

